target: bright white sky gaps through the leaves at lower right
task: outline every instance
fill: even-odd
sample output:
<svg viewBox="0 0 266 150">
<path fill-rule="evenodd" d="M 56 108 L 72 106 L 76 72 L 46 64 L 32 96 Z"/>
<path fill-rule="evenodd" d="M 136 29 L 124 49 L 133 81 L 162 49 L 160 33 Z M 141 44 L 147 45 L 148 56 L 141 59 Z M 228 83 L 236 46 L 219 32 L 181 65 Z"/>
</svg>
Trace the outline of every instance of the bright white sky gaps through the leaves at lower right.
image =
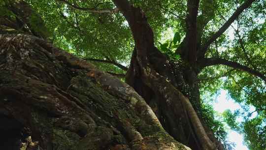
<svg viewBox="0 0 266 150">
<path fill-rule="evenodd" d="M 217 101 L 213 103 L 213 108 L 219 113 L 222 113 L 227 109 L 232 112 L 241 109 L 240 105 L 234 103 L 233 99 L 228 95 L 228 92 L 223 89 L 221 90 L 221 94 L 217 97 Z M 248 150 L 243 144 L 243 136 L 235 131 L 230 130 L 228 132 L 228 141 L 236 144 L 235 150 Z"/>
</svg>

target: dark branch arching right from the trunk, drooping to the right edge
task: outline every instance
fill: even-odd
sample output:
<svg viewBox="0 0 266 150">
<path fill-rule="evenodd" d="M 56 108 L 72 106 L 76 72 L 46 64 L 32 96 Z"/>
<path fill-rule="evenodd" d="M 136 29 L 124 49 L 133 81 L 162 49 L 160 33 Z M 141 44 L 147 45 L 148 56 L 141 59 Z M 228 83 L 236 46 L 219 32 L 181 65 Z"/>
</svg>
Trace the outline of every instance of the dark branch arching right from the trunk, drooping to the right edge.
<svg viewBox="0 0 266 150">
<path fill-rule="evenodd" d="M 254 69 L 248 68 L 244 65 L 238 64 L 222 58 L 204 58 L 201 62 L 201 67 L 213 66 L 213 65 L 226 65 L 235 69 L 239 69 L 245 72 L 248 72 L 252 75 L 258 76 L 266 82 L 266 76 Z"/>
</svg>

